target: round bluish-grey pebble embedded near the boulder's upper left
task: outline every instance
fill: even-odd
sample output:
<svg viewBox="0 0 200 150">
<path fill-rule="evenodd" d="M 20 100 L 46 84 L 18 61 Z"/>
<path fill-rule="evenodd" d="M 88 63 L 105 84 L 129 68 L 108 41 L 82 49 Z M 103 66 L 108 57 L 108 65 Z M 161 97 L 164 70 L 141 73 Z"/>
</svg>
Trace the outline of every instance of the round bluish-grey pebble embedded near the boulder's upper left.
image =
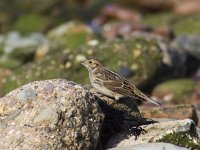
<svg viewBox="0 0 200 150">
<path fill-rule="evenodd" d="M 37 94 L 31 88 L 24 88 L 17 94 L 17 100 L 21 102 L 29 102 L 36 99 Z"/>
</svg>

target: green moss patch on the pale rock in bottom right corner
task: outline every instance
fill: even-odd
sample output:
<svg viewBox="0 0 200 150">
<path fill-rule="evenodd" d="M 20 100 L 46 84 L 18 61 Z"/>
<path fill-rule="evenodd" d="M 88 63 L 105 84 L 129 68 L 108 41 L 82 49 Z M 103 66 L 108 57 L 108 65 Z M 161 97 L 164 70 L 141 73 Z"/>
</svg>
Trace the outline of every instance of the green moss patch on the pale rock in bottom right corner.
<svg viewBox="0 0 200 150">
<path fill-rule="evenodd" d="M 156 142 L 172 143 L 190 149 L 200 149 L 200 141 L 197 137 L 191 137 L 187 132 L 170 133 Z"/>
</svg>

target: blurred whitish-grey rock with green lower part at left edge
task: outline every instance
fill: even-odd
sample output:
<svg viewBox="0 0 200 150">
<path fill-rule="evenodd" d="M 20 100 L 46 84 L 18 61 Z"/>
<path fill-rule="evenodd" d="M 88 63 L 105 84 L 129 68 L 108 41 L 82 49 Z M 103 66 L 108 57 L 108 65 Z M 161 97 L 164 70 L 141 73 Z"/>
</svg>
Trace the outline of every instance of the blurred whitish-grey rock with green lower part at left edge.
<svg viewBox="0 0 200 150">
<path fill-rule="evenodd" d="M 33 60 L 37 47 L 47 42 L 47 39 L 39 33 L 22 36 L 19 32 L 10 32 L 0 38 L 0 51 L 2 51 L 0 66 L 9 68 L 16 68 Z"/>
</svg>

